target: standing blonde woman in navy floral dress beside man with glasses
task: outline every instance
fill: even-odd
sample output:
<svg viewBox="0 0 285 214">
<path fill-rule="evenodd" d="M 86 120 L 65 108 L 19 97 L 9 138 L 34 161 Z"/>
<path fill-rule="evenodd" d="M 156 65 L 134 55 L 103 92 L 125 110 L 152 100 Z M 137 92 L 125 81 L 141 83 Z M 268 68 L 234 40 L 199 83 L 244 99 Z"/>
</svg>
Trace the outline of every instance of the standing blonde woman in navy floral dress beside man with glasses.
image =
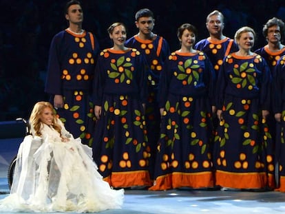
<svg viewBox="0 0 285 214">
<path fill-rule="evenodd" d="M 271 73 L 264 58 L 251 51 L 252 28 L 237 30 L 235 41 L 240 49 L 224 58 L 217 81 L 216 184 L 224 189 L 272 189 L 273 145 L 266 123 Z"/>
</svg>

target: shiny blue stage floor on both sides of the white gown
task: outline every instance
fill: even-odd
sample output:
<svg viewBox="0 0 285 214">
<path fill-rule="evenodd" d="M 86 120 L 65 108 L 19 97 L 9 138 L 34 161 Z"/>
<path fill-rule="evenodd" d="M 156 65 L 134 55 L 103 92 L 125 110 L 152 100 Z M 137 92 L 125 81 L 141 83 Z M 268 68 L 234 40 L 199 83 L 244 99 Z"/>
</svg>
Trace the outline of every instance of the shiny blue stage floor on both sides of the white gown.
<svg viewBox="0 0 285 214">
<path fill-rule="evenodd" d="M 17 140 L 0 140 L 0 144 L 1 199 L 9 193 L 8 167 L 17 153 L 18 144 Z M 120 210 L 101 213 L 285 213 L 285 193 L 130 189 L 125 191 L 125 202 Z"/>
</svg>

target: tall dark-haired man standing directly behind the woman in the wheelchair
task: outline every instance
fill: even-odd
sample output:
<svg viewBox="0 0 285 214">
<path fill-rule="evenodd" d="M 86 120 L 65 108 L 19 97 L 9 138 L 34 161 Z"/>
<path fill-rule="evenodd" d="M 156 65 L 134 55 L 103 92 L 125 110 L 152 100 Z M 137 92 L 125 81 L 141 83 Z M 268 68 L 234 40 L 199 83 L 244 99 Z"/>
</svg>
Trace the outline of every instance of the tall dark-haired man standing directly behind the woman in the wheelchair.
<svg viewBox="0 0 285 214">
<path fill-rule="evenodd" d="M 45 92 L 65 127 L 91 146 L 95 122 L 90 92 L 99 45 L 91 32 L 82 29 L 79 1 L 66 3 L 65 19 L 69 27 L 56 34 L 50 45 Z"/>
</svg>

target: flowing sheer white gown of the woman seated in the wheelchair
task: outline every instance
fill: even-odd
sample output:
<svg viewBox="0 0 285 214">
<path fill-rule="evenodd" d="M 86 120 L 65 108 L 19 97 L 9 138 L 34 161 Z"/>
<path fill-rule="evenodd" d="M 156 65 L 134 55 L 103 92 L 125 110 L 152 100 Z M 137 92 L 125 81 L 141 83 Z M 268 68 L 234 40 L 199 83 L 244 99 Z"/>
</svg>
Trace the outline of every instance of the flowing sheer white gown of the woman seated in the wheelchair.
<svg viewBox="0 0 285 214">
<path fill-rule="evenodd" d="M 45 124 L 41 138 L 33 134 L 21 142 L 10 195 L 0 200 L 0 211 L 85 213 L 122 206 L 124 190 L 103 181 L 92 149 L 59 124 L 69 142 L 61 142 L 59 133 Z"/>
</svg>

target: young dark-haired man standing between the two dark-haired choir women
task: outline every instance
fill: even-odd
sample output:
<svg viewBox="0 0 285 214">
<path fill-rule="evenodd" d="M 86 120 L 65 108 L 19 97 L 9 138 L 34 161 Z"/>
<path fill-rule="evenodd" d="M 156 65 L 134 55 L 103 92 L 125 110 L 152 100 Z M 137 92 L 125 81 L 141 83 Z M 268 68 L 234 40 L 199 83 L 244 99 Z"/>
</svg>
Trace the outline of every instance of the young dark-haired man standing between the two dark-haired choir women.
<svg viewBox="0 0 285 214">
<path fill-rule="evenodd" d="M 136 48 L 141 54 L 144 54 L 149 65 L 148 90 L 149 97 L 146 103 L 145 115 L 147 122 L 147 136 L 151 145 L 151 175 L 156 156 L 156 144 L 160 132 L 160 110 L 157 102 L 158 83 L 160 72 L 165 59 L 170 54 L 169 44 L 162 36 L 154 34 L 154 13 L 148 8 L 138 10 L 135 15 L 136 28 L 138 34 L 132 36 L 125 43 L 127 47 Z"/>
</svg>

